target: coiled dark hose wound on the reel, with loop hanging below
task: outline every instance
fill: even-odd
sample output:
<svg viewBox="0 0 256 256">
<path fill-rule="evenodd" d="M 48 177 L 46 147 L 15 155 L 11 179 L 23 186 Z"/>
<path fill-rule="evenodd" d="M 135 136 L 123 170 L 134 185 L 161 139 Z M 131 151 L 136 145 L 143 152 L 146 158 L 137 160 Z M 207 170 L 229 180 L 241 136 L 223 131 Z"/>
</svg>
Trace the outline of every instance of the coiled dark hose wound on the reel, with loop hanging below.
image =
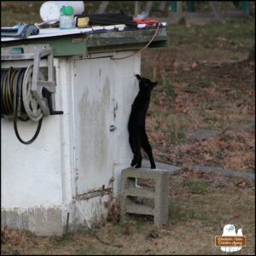
<svg viewBox="0 0 256 256">
<path fill-rule="evenodd" d="M 43 123 L 43 116 L 38 121 L 38 128 L 32 139 L 29 141 L 21 139 L 17 127 L 17 119 L 21 121 L 29 119 L 22 100 L 22 89 L 23 86 L 26 86 L 26 84 L 23 84 L 25 73 L 26 68 L 9 67 L 7 70 L 1 69 L 1 118 L 13 118 L 15 135 L 20 143 L 31 144 L 38 137 Z"/>
</svg>

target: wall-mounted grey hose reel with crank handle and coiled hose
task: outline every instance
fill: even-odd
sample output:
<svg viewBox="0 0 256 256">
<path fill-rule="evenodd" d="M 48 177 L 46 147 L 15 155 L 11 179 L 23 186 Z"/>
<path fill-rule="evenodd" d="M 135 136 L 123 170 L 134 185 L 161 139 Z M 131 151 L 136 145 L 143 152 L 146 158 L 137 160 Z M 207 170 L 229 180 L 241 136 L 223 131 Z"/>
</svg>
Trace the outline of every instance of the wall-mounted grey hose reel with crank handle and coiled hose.
<svg viewBox="0 0 256 256">
<path fill-rule="evenodd" d="M 26 48 L 25 48 L 26 49 Z M 30 144 L 38 137 L 43 117 L 63 114 L 53 110 L 52 93 L 55 93 L 53 49 L 44 46 L 34 52 L 12 54 L 9 49 L 1 53 L 2 61 L 33 60 L 28 67 L 9 67 L 1 69 L 1 118 L 13 118 L 16 137 L 20 143 Z M 6 53 L 7 52 L 7 53 Z M 47 80 L 40 70 L 40 62 L 47 58 Z M 17 128 L 17 119 L 38 122 L 38 128 L 32 139 L 21 139 Z"/>
</svg>

